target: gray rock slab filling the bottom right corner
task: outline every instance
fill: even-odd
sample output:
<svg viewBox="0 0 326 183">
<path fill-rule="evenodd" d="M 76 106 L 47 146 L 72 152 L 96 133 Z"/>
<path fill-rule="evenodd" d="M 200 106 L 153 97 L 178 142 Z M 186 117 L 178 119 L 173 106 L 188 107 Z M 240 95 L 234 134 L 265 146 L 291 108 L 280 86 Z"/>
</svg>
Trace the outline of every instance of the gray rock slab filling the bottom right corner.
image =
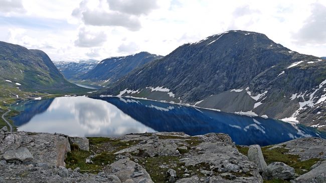
<svg viewBox="0 0 326 183">
<path fill-rule="evenodd" d="M 291 180 L 292 183 L 324 183 L 326 182 L 326 161 L 319 166 Z"/>
</svg>

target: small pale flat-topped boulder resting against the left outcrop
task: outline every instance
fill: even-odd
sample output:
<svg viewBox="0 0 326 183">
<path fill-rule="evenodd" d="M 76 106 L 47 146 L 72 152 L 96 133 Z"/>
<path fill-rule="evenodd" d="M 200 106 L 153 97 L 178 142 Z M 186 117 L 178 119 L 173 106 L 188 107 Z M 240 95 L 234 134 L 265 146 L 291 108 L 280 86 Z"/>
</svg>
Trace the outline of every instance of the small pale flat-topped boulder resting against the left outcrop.
<svg viewBox="0 0 326 183">
<path fill-rule="evenodd" d="M 4 154 L 4 159 L 7 161 L 32 161 L 34 159 L 33 155 L 27 148 L 20 148 L 15 150 L 8 150 Z"/>
</svg>

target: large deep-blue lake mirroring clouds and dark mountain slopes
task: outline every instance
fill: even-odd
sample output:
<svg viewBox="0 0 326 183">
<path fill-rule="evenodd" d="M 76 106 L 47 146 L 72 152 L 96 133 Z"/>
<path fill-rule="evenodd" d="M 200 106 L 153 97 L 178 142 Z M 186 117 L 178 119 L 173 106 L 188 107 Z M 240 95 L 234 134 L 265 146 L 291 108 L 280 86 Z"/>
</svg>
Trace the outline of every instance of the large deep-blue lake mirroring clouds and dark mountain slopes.
<svg viewBox="0 0 326 183">
<path fill-rule="evenodd" d="M 236 144 L 269 145 L 324 132 L 280 120 L 249 117 L 191 106 L 124 97 L 57 97 L 13 105 L 19 131 L 70 136 L 120 136 L 182 131 L 189 135 L 227 133 Z"/>
</svg>

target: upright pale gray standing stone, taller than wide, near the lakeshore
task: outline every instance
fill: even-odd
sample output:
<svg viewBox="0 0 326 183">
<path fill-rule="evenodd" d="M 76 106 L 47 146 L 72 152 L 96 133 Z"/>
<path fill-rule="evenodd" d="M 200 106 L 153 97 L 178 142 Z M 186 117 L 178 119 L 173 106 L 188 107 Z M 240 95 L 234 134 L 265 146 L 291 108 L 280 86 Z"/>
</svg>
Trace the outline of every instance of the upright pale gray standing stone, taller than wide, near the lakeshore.
<svg viewBox="0 0 326 183">
<path fill-rule="evenodd" d="M 261 148 L 257 144 L 249 146 L 248 159 L 258 166 L 259 172 L 263 172 L 267 168 Z"/>
</svg>

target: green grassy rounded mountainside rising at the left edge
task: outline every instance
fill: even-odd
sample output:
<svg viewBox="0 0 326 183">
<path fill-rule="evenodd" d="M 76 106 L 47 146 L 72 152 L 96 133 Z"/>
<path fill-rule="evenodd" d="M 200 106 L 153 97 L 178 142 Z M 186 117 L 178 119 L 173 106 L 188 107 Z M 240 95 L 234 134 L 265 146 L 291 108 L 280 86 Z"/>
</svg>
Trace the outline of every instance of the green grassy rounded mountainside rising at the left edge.
<svg viewBox="0 0 326 183">
<path fill-rule="evenodd" d="M 43 51 L 6 42 L 0 42 L 0 73 L 0 93 L 12 90 L 55 93 L 81 89 L 68 82 Z"/>
</svg>

